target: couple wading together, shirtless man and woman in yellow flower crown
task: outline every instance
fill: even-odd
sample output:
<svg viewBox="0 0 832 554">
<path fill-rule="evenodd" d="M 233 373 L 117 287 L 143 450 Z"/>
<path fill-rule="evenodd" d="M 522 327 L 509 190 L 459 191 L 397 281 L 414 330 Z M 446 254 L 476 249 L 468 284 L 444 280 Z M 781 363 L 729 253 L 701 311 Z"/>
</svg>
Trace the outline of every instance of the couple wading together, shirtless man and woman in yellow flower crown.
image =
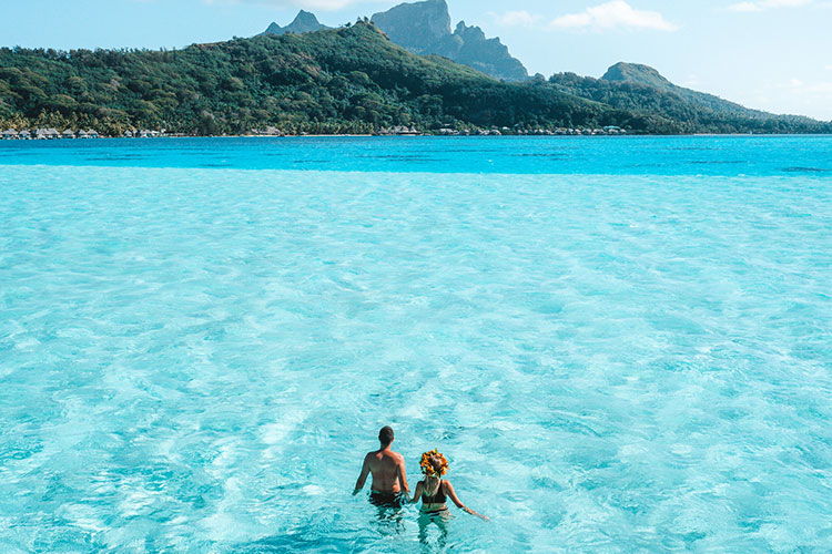
<svg viewBox="0 0 832 554">
<path fill-rule="evenodd" d="M 436 450 L 422 454 L 419 466 L 425 479 L 418 482 L 413 499 L 410 499 L 410 488 L 407 484 L 407 473 L 405 472 L 405 459 L 390 448 L 393 440 L 393 429 L 389 427 L 382 428 L 378 432 L 378 442 L 381 442 L 382 448 L 364 456 L 364 465 L 361 475 L 358 475 L 358 481 L 355 483 L 353 494 L 358 494 L 358 491 L 364 488 L 364 483 L 367 481 L 367 475 L 373 475 L 369 499 L 378 506 L 397 507 L 422 501 L 423 512 L 444 514 L 448 512 L 447 500 L 450 499 L 457 507 L 477 517 L 488 520 L 485 515 L 478 514 L 463 504 L 450 481 L 443 479 L 443 475 L 448 472 L 448 461 Z"/>
</svg>

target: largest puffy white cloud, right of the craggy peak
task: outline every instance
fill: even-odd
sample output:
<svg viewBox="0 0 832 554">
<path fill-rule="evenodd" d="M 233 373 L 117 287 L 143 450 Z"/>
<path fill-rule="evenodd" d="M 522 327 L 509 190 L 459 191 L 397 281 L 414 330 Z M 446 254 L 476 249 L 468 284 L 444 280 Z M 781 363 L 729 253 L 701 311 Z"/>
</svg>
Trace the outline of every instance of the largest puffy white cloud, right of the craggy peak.
<svg viewBox="0 0 832 554">
<path fill-rule="evenodd" d="M 623 0 L 613 0 L 587 8 L 579 13 L 561 16 L 549 27 L 555 29 L 648 29 L 655 31 L 676 31 L 678 25 L 666 20 L 658 11 L 636 10 Z"/>
</svg>

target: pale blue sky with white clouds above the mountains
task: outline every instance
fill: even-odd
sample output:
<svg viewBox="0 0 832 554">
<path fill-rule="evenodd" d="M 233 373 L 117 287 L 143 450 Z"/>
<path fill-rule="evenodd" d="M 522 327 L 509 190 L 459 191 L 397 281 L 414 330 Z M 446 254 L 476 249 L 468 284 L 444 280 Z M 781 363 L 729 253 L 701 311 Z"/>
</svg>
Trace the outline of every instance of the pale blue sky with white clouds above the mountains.
<svg viewBox="0 0 832 554">
<path fill-rule="evenodd" d="M 377 0 L 0 0 L 0 45 L 180 48 L 251 37 L 298 9 L 338 25 Z M 748 107 L 832 120 L 832 0 L 448 0 L 530 73 L 646 63 Z"/>
</svg>

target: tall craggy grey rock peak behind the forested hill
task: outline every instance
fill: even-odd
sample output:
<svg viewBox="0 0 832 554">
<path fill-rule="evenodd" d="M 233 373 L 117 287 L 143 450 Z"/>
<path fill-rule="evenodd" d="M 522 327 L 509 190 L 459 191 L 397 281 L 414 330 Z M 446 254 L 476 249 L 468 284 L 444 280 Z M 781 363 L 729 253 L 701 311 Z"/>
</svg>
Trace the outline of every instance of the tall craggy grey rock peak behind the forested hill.
<svg viewBox="0 0 832 554">
<path fill-rule="evenodd" d="M 478 27 L 460 21 L 450 32 L 445 0 L 403 3 L 371 18 L 393 42 L 420 55 L 437 54 L 495 79 L 522 81 L 528 72 L 499 39 L 487 39 Z"/>
</svg>

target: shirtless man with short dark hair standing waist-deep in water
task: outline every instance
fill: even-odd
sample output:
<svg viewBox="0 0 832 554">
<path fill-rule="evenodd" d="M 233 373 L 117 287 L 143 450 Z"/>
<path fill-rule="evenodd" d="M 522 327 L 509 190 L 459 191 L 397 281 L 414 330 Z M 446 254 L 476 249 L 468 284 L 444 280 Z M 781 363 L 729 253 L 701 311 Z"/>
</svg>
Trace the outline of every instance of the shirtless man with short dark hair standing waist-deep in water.
<svg viewBox="0 0 832 554">
<path fill-rule="evenodd" d="M 393 439 L 393 428 L 383 427 L 378 431 L 378 442 L 382 443 L 382 448 L 364 456 L 362 473 L 353 491 L 354 495 L 358 494 L 367 481 L 367 475 L 372 473 L 373 485 L 369 501 L 378 506 L 400 506 L 407 502 L 407 495 L 410 494 L 405 474 L 405 459 L 390 449 Z"/>
</svg>

